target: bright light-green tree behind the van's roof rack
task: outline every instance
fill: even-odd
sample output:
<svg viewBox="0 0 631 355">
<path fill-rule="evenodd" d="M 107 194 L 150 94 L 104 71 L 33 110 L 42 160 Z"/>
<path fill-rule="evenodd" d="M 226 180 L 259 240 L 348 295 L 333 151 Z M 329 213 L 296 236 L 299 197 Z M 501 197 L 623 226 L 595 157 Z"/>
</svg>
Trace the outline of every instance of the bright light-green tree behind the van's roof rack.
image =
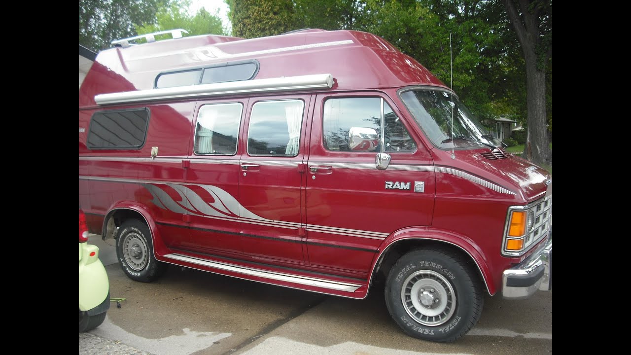
<svg viewBox="0 0 631 355">
<path fill-rule="evenodd" d="M 156 13 L 156 23 L 150 25 L 138 25 L 138 34 L 160 32 L 163 30 L 173 30 L 182 28 L 188 32 L 188 36 L 194 35 L 227 35 L 219 13 L 211 15 L 206 9 L 201 8 L 191 16 L 188 8 L 191 4 L 189 0 L 174 0 L 168 5 L 161 6 Z M 170 38 L 168 35 L 167 38 Z"/>
</svg>

